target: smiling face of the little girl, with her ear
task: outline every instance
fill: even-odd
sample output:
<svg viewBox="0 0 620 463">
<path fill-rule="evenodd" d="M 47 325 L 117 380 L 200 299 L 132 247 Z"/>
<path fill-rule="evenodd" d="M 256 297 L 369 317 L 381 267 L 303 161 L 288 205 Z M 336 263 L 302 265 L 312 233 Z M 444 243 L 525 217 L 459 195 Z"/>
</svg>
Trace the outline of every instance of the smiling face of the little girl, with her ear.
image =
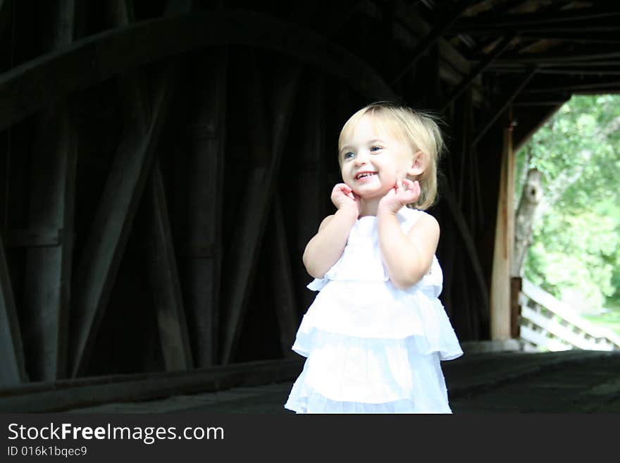
<svg viewBox="0 0 620 463">
<path fill-rule="evenodd" d="M 421 173 L 420 152 L 364 115 L 342 140 L 342 180 L 363 199 L 383 197 L 397 180 Z"/>
</svg>

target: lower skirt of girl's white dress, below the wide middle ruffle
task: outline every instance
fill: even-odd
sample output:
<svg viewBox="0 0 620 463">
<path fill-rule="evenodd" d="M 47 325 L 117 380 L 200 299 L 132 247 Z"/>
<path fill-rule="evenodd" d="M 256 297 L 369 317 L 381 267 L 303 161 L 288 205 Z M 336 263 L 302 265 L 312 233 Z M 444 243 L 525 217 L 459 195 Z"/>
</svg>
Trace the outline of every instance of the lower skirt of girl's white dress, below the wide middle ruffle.
<svg viewBox="0 0 620 463">
<path fill-rule="evenodd" d="M 285 407 L 298 413 L 451 413 L 438 354 L 420 336 L 350 338 L 314 331 Z"/>
</svg>

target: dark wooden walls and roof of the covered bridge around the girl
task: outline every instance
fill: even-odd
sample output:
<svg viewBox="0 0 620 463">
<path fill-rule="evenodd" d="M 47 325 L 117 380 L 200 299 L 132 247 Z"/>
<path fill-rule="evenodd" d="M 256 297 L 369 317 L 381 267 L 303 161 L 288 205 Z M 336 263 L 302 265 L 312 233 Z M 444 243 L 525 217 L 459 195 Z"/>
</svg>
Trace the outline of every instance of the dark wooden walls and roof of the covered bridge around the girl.
<svg viewBox="0 0 620 463">
<path fill-rule="evenodd" d="M 337 132 L 379 99 L 446 122 L 442 301 L 488 339 L 502 132 L 620 89 L 609 5 L 0 1 L 0 409 L 290 378 Z"/>
</svg>

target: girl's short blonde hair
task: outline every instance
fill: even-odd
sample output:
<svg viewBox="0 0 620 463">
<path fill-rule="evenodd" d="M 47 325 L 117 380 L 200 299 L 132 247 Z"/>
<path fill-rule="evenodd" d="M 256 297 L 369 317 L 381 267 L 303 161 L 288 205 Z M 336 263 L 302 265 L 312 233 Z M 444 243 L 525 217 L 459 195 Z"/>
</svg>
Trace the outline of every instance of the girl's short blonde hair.
<svg viewBox="0 0 620 463">
<path fill-rule="evenodd" d="M 444 149 L 441 130 L 436 122 L 437 118 L 423 111 L 385 101 L 369 104 L 354 113 L 340 130 L 338 153 L 340 153 L 345 137 L 366 115 L 373 118 L 373 122 L 380 130 L 392 132 L 402 141 L 409 143 L 414 152 L 423 153 L 426 168 L 416 178 L 420 183 L 420 197 L 408 206 L 415 209 L 428 209 L 437 197 L 437 165 Z M 340 156 L 338 156 L 338 162 L 342 166 Z"/>
</svg>

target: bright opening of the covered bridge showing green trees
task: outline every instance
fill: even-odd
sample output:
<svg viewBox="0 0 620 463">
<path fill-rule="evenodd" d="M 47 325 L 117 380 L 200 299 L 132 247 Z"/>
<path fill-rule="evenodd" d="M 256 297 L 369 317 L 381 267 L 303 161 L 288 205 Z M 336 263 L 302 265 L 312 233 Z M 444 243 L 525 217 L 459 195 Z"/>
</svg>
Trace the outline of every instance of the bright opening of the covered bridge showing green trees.
<svg viewBox="0 0 620 463">
<path fill-rule="evenodd" d="M 566 328 L 545 346 L 535 333 L 549 327 L 522 311 L 521 338 L 540 349 L 575 347 L 590 323 L 620 340 L 619 129 L 620 94 L 575 95 L 516 153 L 512 276 L 557 298 L 560 313 L 545 318 Z"/>
</svg>

